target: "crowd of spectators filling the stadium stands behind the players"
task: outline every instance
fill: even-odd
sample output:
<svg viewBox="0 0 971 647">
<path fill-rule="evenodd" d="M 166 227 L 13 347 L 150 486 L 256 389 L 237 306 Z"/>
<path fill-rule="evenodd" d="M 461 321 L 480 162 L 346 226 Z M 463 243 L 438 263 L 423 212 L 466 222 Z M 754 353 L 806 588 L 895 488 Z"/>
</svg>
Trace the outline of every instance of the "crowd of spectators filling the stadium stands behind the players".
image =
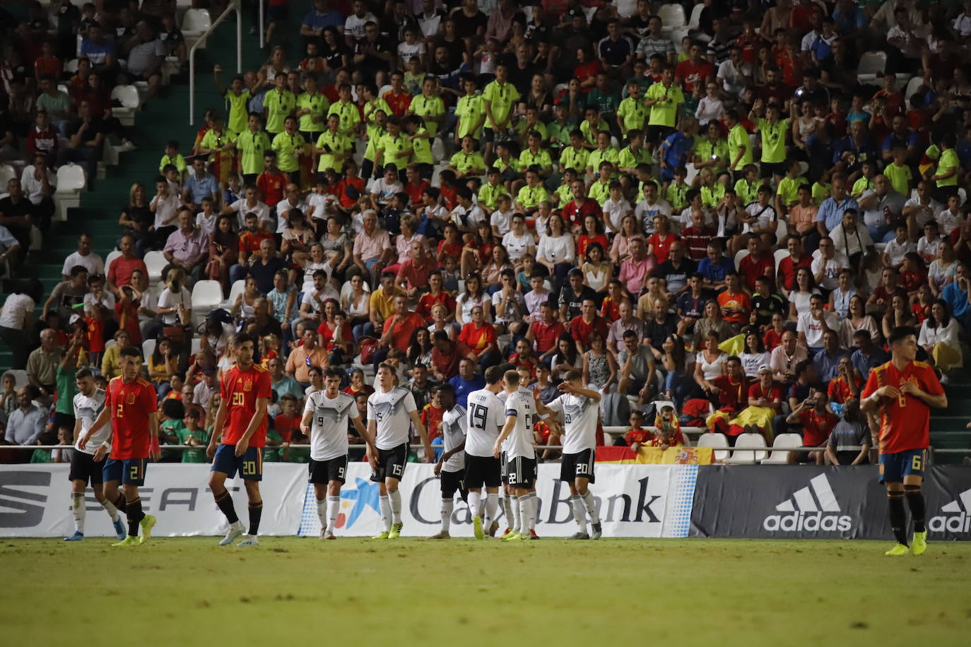
<svg viewBox="0 0 971 647">
<path fill-rule="evenodd" d="M 127 75 L 151 94 L 161 57 L 184 57 L 175 3 L 137 4 L 84 5 L 52 40 L 44 12 L 67 0 L 8 25 L 0 152 L 29 162 L 0 200 L 15 277 L 50 226 L 50 169 L 126 140 L 106 92 Z M 164 440 L 205 445 L 238 331 L 271 374 L 266 460 L 307 460 L 289 444 L 327 367 L 366 418 L 381 362 L 433 439 L 434 386 L 465 404 L 508 361 L 545 402 L 582 371 L 605 425 L 632 410 L 630 445 L 676 444 L 679 423 L 868 442 L 854 403 L 890 329 L 918 327 L 944 379 L 962 366 L 971 2 L 621 4 L 315 0 L 296 34 L 271 2 L 285 46 L 239 77 L 214 68 L 225 105 L 119 197 L 110 267 L 83 235 L 50 295 L 7 298 L 0 337 L 29 384 L 3 378 L 5 442 L 72 442 L 75 370 L 104 383 L 118 348 L 153 340 Z M 679 9 L 696 24 L 665 24 Z M 883 70 L 858 76 L 872 58 Z M 223 307 L 192 311 L 199 281 Z"/>
</svg>

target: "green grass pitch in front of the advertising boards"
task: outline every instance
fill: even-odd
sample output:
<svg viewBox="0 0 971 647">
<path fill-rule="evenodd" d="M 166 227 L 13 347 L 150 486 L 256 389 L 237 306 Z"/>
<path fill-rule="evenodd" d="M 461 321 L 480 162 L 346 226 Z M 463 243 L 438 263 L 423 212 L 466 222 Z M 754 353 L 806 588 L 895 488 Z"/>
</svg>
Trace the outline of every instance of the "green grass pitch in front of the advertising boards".
<svg viewBox="0 0 971 647">
<path fill-rule="evenodd" d="M 0 539 L 4 642 L 916 647 L 971 634 L 967 543 L 887 558 L 890 543 L 871 541 L 217 542 Z"/>
</svg>

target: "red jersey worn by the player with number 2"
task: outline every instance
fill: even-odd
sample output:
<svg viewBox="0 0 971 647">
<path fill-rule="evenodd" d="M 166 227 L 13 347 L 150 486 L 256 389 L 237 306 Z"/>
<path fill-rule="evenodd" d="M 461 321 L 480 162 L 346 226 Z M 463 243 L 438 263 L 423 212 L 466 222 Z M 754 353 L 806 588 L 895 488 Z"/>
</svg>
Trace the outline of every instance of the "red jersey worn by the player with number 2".
<svg viewBox="0 0 971 647">
<path fill-rule="evenodd" d="M 105 406 L 112 415 L 112 453 L 115 460 L 149 458 L 149 415 L 158 410 L 155 387 L 136 377 L 108 383 Z"/>
</svg>

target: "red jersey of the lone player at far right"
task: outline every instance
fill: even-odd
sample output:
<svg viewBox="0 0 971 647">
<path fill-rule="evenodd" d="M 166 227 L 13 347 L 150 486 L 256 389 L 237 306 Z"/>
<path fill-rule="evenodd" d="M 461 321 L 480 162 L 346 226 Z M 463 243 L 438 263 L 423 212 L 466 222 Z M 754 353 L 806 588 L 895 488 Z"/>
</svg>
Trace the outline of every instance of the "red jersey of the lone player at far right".
<svg viewBox="0 0 971 647">
<path fill-rule="evenodd" d="M 929 364 L 911 362 L 906 369 L 898 371 L 893 362 L 887 362 L 870 372 L 860 397 L 869 398 L 882 386 L 895 386 L 899 389 L 904 382 L 916 384 L 921 391 L 932 396 L 944 393 L 941 380 Z M 905 393 L 900 394 L 896 400 L 884 398 L 880 404 L 881 454 L 927 448 L 930 444 L 929 406 Z"/>
</svg>

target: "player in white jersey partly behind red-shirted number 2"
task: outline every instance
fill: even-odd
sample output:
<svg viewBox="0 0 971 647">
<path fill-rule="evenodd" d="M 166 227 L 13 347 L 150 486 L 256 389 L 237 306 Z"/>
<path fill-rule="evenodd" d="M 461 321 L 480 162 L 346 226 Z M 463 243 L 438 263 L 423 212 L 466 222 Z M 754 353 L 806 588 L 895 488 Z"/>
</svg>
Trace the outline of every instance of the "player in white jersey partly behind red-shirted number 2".
<svg viewBox="0 0 971 647">
<path fill-rule="evenodd" d="M 78 446 L 78 438 L 91 428 L 95 418 L 105 407 L 105 390 L 99 389 L 94 385 L 94 375 L 90 369 L 81 369 L 74 374 L 75 381 L 78 383 L 78 393 L 74 397 L 74 452 L 71 455 L 71 471 L 68 478 L 71 479 L 71 515 L 74 517 L 74 534 L 65 537 L 64 541 L 81 541 L 84 539 L 84 515 L 87 512 L 84 502 L 84 491 L 90 481 L 91 489 L 94 490 L 94 498 L 101 503 L 102 507 L 112 518 L 115 526 L 115 534 L 118 539 L 124 539 L 126 534 L 124 524 L 118 517 L 118 510 L 115 504 L 105 499 L 102 491 L 102 469 L 105 467 L 105 455 L 107 447 L 99 449 L 112 438 L 112 429 L 109 426 L 101 428 L 97 434 L 88 438 L 84 449 Z M 99 454 L 100 456 L 96 456 Z"/>
</svg>

